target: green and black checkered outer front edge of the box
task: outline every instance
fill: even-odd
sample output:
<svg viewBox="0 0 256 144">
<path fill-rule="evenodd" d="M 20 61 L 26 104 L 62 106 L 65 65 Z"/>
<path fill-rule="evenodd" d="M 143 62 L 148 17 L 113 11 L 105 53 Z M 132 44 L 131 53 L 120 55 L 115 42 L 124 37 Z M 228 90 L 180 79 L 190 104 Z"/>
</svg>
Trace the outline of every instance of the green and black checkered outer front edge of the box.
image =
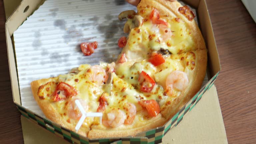
<svg viewBox="0 0 256 144">
<path fill-rule="evenodd" d="M 118 141 L 116 141 L 116 139 L 89 140 L 88 138 L 82 137 L 73 131 L 67 130 L 66 128 L 63 128 L 48 119 L 34 114 L 32 111 L 18 104 L 16 104 L 16 106 L 21 112 L 21 115 L 72 144 L 110 144 L 111 142 L 111 144 L 122 144 L 123 142 L 125 144 L 157 144 L 161 143 L 163 136 L 172 127 L 177 126 L 183 120 L 183 117 L 194 108 L 194 106 L 202 98 L 203 94 L 212 87 L 218 75 L 219 72 L 213 78 L 211 78 L 211 80 L 203 88 L 201 88 L 201 90 L 185 106 L 183 106 L 182 109 L 165 124 L 165 126 L 140 133 L 137 135 L 137 138 L 122 138 Z"/>
</svg>

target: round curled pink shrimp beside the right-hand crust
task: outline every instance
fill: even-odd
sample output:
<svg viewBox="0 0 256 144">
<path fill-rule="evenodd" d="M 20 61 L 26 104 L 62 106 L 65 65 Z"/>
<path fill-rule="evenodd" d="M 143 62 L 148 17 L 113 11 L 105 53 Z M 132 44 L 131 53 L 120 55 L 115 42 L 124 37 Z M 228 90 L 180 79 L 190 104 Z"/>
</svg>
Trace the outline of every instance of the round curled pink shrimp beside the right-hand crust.
<svg viewBox="0 0 256 144">
<path fill-rule="evenodd" d="M 177 89 L 183 91 L 187 88 L 189 83 L 188 76 L 183 71 L 173 71 L 166 78 L 166 90 L 168 95 L 172 95 L 171 91 Z"/>
</svg>

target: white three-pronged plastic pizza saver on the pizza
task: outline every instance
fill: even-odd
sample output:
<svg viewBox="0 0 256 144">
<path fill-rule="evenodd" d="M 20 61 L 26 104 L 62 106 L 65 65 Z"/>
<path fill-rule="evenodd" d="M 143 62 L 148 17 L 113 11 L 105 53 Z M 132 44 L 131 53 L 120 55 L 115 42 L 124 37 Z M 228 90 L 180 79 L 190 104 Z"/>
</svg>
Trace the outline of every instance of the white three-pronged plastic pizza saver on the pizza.
<svg viewBox="0 0 256 144">
<path fill-rule="evenodd" d="M 80 127 L 83 124 L 86 117 L 100 117 L 100 124 L 102 123 L 102 113 L 100 113 L 100 112 L 86 113 L 83 106 L 79 102 L 79 100 L 75 100 L 75 103 L 76 103 L 77 107 L 79 108 L 80 112 L 82 113 L 82 116 L 75 127 L 76 132 L 80 129 Z"/>
</svg>

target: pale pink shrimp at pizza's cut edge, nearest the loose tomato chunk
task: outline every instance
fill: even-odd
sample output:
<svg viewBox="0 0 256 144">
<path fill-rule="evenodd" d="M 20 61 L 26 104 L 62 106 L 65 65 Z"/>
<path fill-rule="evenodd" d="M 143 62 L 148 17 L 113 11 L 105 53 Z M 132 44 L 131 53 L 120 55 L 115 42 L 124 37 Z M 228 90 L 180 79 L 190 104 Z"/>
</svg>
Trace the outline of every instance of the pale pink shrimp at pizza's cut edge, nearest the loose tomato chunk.
<svg viewBox="0 0 256 144">
<path fill-rule="evenodd" d="M 101 86 L 106 77 L 106 71 L 100 67 L 99 65 L 91 66 L 89 70 L 87 70 L 90 76 L 90 80 L 95 82 L 96 85 Z"/>
</svg>

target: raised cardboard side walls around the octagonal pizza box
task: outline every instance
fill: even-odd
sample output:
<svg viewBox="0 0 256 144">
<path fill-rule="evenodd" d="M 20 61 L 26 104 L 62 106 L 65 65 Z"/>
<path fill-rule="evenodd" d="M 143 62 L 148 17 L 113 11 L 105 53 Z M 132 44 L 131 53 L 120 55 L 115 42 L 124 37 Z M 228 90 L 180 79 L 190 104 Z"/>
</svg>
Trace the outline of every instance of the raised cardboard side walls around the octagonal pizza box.
<svg viewBox="0 0 256 144">
<path fill-rule="evenodd" d="M 50 122 L 47 119 L 43 119 L 40 116 L 31 113 L 29 110 L 26 110 L 23 108 L 20 104 L 20 94 L 19 94 L 19 85 L 18 85 L 18 78 L 17 78 L 17 69 L 15 64 L 15 56 L 14 56 L 14 50 L 13 45 L 11 41 L 11 36 L 13 32 L 21 25 L 27 18 L 27 16 L 31 15 L 31 13 L 38 7 L 40 4 L 40 0 L 23 0 L 22 3 L 19 5 L 19 7 L 16 9 L 16 11 L 12 14 L 12 16 L 7 20 L 6 22 L 6 39 L 7 39 L 7 51 L 8 51 L 8 60 L 9 60 L 9 68 L 10 68 L 10 77 L 11 77 L 11 84 L 12 84 L 12 92 L 13 92 L 13 99 L 14 103 L 17 105 L 18 109 L 20 110 L 21 114 L 31 120 L 34 120 L 34 122 L 38 123 L 45 129 L 47 128 L 45 125 L 50 125 L 54 128 L 54 132 L 56 131 L 57 135 L 63 137 L 64 139 L 68 139 L 68 141 L 73 141 L 73 139 L 76 137 L 79 139 L 79 142 L 90 142 L 91 140 L 88 140 L 85 138 L 84 140 L 79 135 L 69 131 L 65 128 L 60 127 L 59 125 L 56 125 L 52 122 Z M 205 38 L 206 45 L 208 48 L 208 68 L 210 69 L 211 73 L 208 73 L 208 76 L 211 77 L 211 80 L 187 103 L 188 105 L 185 105 L 180 112 L 178 112 L 167 124 L 165 124 L 165 127 L 161 127 L 157 130 L 151 130 L 148 132 L 145 132 L 141 134 L 142 136 L 150 136 L 152 134 L 159 135 L 158 137 L 153 137 L 152 142 L 158 142 L 159 140 L 162 140 L 162 137 L 164 134 L 166 134 L 171 127 L 178 124 L 182 119 L 183 116 L 189 112 L 201 99 L 202 95 L 213 85 L 213 82 L 215 81 L 216 77 L 219 74 L 219 71 L 221 70 L 218 52 L 216 48 L 216 43 L 214 39 L 214 34 L 212 30 L 212 25 L 209 17 L 209 13 L 207 10 L 207 5 L 205 0 L 196 0 L 193 2 L 189 2 L 188 0 L 184 0 L 184 2 L 187 2 L 188 4 L 194 6 L 198 10 L 198 17 L 199 17 L 199 23 L 200 25 L 206 25 L 206 27 L 201 27 L 201 32 Z M 29 5 L 29 9 L 24 14 L 24 9 Z M 184 113 L 182 113 L 184 112 Z M 157 132 L 159 131 L 159 132 Z M 68 134 L 68 135 L 67 135 Z M 131 139 L 130 139 L 131 140 Z M 100 141 L 100 140 L 99 140 Z"/>
</svg>

